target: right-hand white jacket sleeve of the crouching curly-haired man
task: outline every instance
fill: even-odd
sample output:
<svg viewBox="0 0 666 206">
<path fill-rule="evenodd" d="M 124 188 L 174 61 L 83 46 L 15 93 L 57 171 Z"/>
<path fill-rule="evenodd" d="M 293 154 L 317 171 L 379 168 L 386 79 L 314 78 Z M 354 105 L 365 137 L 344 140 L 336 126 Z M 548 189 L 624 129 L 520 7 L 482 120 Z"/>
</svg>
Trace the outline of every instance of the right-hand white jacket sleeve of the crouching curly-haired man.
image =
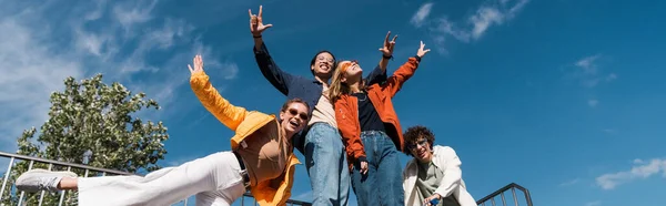
<svg viewBox="0 0 666 206">
<path fill-rule="evenodd" d="M 444 177 L 440 182 L 440 186 L 435 189 L 436 194 L 442 197 L 450 196 L 460 185 L 463 176 L 461 171 L 461 159 L 455 154 L 455 151 L 451 147 L 443 147 L 442 153 L 437 154 L 438 157 L 443 158 L 441 162 L 446 163 L 442 169 L 444 169 Z"/>
</svg>

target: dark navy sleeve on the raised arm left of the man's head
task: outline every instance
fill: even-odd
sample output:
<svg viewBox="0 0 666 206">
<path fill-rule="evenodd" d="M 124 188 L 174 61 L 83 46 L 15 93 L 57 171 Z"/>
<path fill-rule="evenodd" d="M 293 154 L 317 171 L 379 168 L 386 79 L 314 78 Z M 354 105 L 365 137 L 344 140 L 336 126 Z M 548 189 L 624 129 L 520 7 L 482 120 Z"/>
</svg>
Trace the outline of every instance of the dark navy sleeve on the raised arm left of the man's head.
<svg viewBox="0 0 666 206">
<path fill-rule="evenodd" d="M 294 80 L 294 76 L 282 71 L 278 64 L 275 64 L 275 61 L 273 61 L 273 58 L 271 58 L 265 43 L 261 44 L 260 50 L 256 50 L 254 47 L 252 48 L 254 51 L 254 59 L 256 60 L 256 64 L 259 65 L 261 74 L 263 74 L 264 78 L 269 80 L 269 82 L 271 82 L 275 89 L 278 89 L 278 91 L 282 92 L 284 95 L 287 95 L 290 84 Z"/>
</svg>

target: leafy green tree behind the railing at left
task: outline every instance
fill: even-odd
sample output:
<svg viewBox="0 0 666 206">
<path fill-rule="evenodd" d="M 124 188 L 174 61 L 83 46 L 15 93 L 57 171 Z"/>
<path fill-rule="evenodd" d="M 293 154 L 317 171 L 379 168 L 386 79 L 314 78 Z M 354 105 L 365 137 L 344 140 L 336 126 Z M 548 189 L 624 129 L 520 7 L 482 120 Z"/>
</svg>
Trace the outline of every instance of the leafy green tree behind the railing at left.
<svg viewBox="0 0 666 206">
<path fill-rule="evenodd" d="M 167 127 L 162 122 L 132 116 L 142 109 L 159 110 L 154 100 L 145 100 L 144 93 L 132 95 L 118 82 L 104 84 L 102 74 L 80 83 L 70 76 L 64 80 L 64 86 L 63 92 L 51 94 L 49 120 L 40 132 L 32 127 L 23 131 L 18 138 L 18 154 L 128 173 L 160 168 L 158 161 L 167 154 L 162 144 L 169 138 Z M 10 183 L 29 167 L 68 169 L 62 165 L 20 162 L 12 168 Z M 85 174 L 83 169 L 70 169 L 79 176 L 101 175 L 91 171 Z M 2 203 L 16 205 L 21 193 L 6 190 L 6 194 L 1 194 Z M 75 205 L 75 193 L 65 194 L 64 205 Z M 40 195 L 26 193 L 23 203 L 38 205 Z M 58 205 L 59 198 L 60 194 L 46 193 L 42 205 Z"/>
</svg>

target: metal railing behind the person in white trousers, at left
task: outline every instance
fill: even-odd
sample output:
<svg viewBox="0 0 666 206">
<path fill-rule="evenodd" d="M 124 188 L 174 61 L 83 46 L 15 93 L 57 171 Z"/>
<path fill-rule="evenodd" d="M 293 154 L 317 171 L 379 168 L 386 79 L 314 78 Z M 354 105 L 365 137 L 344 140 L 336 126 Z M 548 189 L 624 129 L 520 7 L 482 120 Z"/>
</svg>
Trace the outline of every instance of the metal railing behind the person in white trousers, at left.
<svg viewBox="0 0 666 206">
<path fill-rule="evenodd" d="M 18 162 L 21 161 L 29 161 L 29 166 L 28 169 L 33 168 L 33 165 L 36 163 L 41 163 L 41 164 L 48 164 L 48 169 L 51 171 L 53 169 L 53 167 L 67 167 L 67 171 L 72 171 L 72 169 L 79 169 L 84 172 L 84 176 L 83 177 L 88 177 L 90 174 L 92 173 L 101 173 L 101 176 L 107 176 L 107 175 L 137 175 L 133 173 L 127 173 L 127 172 L 122 172 L 122 171 L 114 171 L 114 169 L 107 169 L 107 168 L 98 168 L 98 167 L 92 167 L 92 166 L 88 166 L 88 165 L 81 165 L 81 164 L 73 164 L 73 163 L 65 163 L 65 162 L 60 162 L 60 161 L 53 161 L 53 159 L 46 159 L 46 158 L 39 158 L 39 157 L 33 157 L 33 156 L 26 156 L 26 155 L 18 155 L 18 154 L 12 154 L 12 153 L 4 153 L 4 152 L 0 152 L 0 159 L 2 158 L 9 158 L 9 164 L 7 165 L 7 171 L 4 172 L 4 174 L 2 175 L 2 185 L 0 187 L 0 206 L 4 206 L 2 203 L 3 200 L 7 200 L 7 198 L 10 198 L 12 196 L 19 196 L 18 198 L 18 205 L 24 205 L 24 200 L 26 200 L 26 193 L 24 192 L 19 192 L 17 189 L 12 189 L 14 187 L 12 187 L 13 183 L 9 183 L 10 182 L 10 176 L 11 176 L 11 172 L 12 169 L 14 169 L 14 165 Z M 0 165 L 1 166 L 1 165 Z M 2 168 L 2 167 L 0 167 Z M 140 176 L 140 175 L 139 175 Z M 13 179 L 11 179 L 13 181 Z M 6 192 L 9 192 L 6 195 Z M 62 206 L 63 202 L 64 202 L 64 195 L 65 195 L 67 190 L 62 190 L 59 193 L 60 197 L 59 197 L 59 203 L 58 206 Z M 71 192 L 70 192 L 71 193 Z M 39 202 L 38 205 L 42 205 L 42 202 L 44 199 L 44 195 L 46 192 L 41 192 L 40 196 L 39 196 Z M 250 193 L 245 193 L 243 195 L 243 197 L 241 197 L 241 199 L 236 199 L 240 200 L 241 205 L 245 204 L 245 198 L 252 198 L 252 194 Z M 183 203 L 185 206 L 188 205 L 188 199 L 185 198 L 176 204 L 181 204 Z M 252 205 L 258 205 L 258 203 L 255 200 L 250 200 L 250 204 Z M 302 206 L 311 206 L 311 203 L 306 203 L 306 202 L 300 202 L 300 200 L 293 200 L 293 199 L 289 199 L 286 200 L 287 205 L 302 205 Z"/>
</svg>

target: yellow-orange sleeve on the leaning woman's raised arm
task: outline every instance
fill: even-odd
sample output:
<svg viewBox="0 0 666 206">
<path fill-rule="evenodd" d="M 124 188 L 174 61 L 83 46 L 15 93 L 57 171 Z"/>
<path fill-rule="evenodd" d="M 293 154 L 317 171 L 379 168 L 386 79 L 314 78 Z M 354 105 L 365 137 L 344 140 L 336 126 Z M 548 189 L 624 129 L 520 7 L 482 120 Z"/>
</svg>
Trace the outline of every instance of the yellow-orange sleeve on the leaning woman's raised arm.
<svg viewBox="0 0 666 206">
<path fill-rule="evenodd" d="M 245 120 L 249 112 L 244 107 L 234 106 L 222 97 L 218 90 L 211 85 L 205 72 L 193 73 L 190 78 L 190 86 L 205 110 L 226 127 L 235 131 L 239 124 Z"/>
</svg>

